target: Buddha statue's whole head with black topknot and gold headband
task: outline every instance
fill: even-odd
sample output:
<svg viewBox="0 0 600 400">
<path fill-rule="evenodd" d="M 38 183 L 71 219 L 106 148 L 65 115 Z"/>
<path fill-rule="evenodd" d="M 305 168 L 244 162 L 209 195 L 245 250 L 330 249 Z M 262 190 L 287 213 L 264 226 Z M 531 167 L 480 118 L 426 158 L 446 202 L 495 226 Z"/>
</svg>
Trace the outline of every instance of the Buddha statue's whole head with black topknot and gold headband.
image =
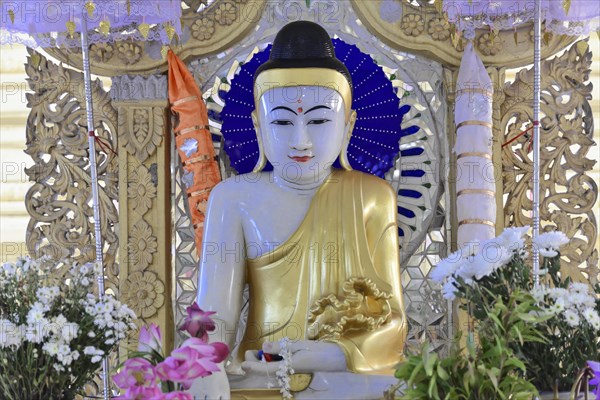
<svg viewBox="0 0 600 400">
<path fill-rule="evenodd" d="M 339 157 L 351 169 L 346 148 L 356 120 L 352 80 L 318 24 L 292 22 L 273 42 L 269 61 L 254 75 L 252 113 L 261 156 L 279 175 L 307 180 Z"/>
</svg>

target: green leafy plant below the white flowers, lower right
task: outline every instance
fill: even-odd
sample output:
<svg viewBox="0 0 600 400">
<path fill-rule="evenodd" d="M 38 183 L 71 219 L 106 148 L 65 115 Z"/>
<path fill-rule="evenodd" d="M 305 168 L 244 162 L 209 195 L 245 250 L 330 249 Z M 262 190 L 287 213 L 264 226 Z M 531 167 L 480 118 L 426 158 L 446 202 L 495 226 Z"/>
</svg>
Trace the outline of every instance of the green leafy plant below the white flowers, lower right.
<svg viewBox="0 0 600 400">
<path fill-rule="evenodd" d="M 531 295 L 512 292 L 508 301 L 497 296 L 484 304 L 488 318 L 478 325 L 478 344 L 469 338 L 466 349 L 455 341 L 447 357 L 438 357 L 425 343 L 396 370 L 403 400 L 531 399 L 535 386 L 525 377 L 526 367 L 512 343 L 543 343 L 536 323 L 538 307 Z"/>
</svg>

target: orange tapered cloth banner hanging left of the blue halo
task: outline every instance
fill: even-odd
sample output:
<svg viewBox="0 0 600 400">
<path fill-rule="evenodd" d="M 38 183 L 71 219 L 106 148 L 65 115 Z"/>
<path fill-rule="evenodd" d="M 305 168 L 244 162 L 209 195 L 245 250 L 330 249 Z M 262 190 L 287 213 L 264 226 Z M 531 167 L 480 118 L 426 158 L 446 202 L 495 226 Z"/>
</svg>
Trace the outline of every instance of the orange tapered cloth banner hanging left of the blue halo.
<svg viewBox="0 0 600 400">
<path fill-rule="evenodd" d="M 185 64 L 171 50 L 167 60 L 175 145 L 183 165 L 183 183 L 200 257 L 206 204 L 210 191 L 221 181 L 221 173 L 208 127 L 208 110 L 200 88 Z"/>
</svg>

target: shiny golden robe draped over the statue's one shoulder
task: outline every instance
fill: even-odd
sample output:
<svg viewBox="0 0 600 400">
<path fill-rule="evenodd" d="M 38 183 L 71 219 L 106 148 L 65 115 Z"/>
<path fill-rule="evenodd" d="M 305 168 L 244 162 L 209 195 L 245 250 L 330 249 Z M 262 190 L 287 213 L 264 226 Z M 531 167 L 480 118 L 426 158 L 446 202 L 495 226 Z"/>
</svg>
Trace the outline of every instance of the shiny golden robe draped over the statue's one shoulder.
<svg viewBox="0 0 600 400">
<path fill-rule="evenodd" d="M 352 372 L 391 373 L 407 331 L 398 252 L 394 190 L 335 170 L 292 236 L 247 260 L 250 308 L 238 357 L 287 336 L 337 343 Z"/>
</svg>

